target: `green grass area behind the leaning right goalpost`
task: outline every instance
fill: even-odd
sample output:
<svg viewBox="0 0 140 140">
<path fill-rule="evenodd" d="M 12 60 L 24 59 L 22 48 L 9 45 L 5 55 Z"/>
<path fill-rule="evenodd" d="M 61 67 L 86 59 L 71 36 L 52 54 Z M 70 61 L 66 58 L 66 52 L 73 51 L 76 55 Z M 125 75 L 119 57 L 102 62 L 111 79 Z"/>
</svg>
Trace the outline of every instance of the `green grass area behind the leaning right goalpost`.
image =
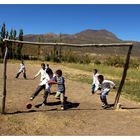
<svg viewBox="0 0 140 140">
<path fill-rule="evenodd" d="M 108 80 L 112 80 L 115 82 L 116 86 L 119 86 L 123 68 L 116 68 L 113 66 L 106 66 L 106 65 L 96 65 L 96 64 L 65 64 L 65 66 L 83 70 L 87 72 L 92 72 L 94 68 L 99 70 L 99 73 L 103 74 L 105 77 L 110 77 Z M 117 78 L 117 79 L 116 79 Z M 85 83 L 92 83 L 92 77 L 90 76 L 75 76 L 73 80 L 81 81 Z M 122 95 L 125 97 L 140 102 L 140 69 L 128 69 L 126 81 L 124 87 L 122 89 Z M 116 90 L 117 91 L 117 90 Z"/>
</svg>

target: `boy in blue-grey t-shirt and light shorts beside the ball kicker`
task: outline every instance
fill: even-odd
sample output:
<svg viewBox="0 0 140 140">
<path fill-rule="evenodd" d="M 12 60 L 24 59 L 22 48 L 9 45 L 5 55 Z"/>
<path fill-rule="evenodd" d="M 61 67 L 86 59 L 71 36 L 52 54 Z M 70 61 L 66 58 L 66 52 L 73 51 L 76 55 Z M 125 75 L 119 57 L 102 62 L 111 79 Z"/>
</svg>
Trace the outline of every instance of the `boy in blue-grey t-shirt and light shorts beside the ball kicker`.
<svg viewBox="0 0 140 140">
<path fill-rule="evenodd" d="M 52 81 L 50 81 L 50 83 L 58 85 L 55 98 L 58 98 L 60 96 L 61 110 L 64 110 L 65 109 L 65 79 L 62 76 L 62 70 L 58 69 L 56 71 L 56 76 L 53 78 Z"/>
</svg>

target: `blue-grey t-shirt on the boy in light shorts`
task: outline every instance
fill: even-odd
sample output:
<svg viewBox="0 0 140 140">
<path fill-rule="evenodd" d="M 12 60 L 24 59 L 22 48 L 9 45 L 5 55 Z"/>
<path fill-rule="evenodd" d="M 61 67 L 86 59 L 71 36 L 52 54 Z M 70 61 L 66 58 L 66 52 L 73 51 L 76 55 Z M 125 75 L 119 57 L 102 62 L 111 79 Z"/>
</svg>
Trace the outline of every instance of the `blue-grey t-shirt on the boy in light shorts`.
<svg viewBox="0 0 140 140">
<path fill-rule="evenodd" d="M 65 79 L 64 79 L 64 77 L 63 76 L 61 76 L 61 77 L 55 76 L 53 78 L 53 80 L 58 83 L 57 91 L 64 93 L 65 92 Z"/>
</svg>

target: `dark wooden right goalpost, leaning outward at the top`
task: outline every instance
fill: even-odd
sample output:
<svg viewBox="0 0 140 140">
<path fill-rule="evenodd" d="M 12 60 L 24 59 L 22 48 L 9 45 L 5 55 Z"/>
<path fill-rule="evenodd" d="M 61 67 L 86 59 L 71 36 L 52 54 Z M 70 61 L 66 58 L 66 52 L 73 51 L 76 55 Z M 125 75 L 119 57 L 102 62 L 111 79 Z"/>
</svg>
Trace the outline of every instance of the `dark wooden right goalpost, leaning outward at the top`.
<svg viewBox="0 0 140 140">
<path fill-rule="evenodd" d="M 121 82 L 120 82 L 120 85 L 119 85 L 119 88 L 118 88 L 118 91 L 117 91 L 117 94 L 116 94 L 116 97 L 115 97 L 115 102 L 114 102 L 114 107 L 115 108 L 116 108 L 116 106 L 119 102 L 121 91 L 122 91 L 122 88 L 123 88 L 123 85 L 124 85 L 124 82 L 125 82 L 125 79 L 126 79 L 127 70 L 129 68 L 129 60 L 130 60 L 132 48 L 133 48 L 133 45 L 131 45 L 128 49 L 128 53 L 127 53 L 127 57 L 126 57 L 125 65 L 124 65 L 124 70 L 123 70 L 123 74 L 122 74 L 122 79 L 121 79 Z"/>
</svg>

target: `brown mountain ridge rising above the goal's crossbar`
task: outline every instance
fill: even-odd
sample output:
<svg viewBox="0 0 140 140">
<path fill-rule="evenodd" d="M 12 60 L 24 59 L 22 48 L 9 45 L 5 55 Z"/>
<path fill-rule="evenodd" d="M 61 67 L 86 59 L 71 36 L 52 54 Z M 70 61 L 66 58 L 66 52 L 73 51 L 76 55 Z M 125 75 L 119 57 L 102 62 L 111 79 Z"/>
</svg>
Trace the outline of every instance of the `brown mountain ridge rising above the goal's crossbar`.
<svg viewBox="0 0 140 140">
<path fill-rule="evenodd" d="M 25 35 L 26 41 L 38 41 L 39 37 L 42 42 L 60 41 L 60 35 L 54 33 Z M 121 42 L 121 39 L 107 30 L 84 30 L 76 34 L 61 34 L 61 40 L 69 43 L 110 43 Z"/>
</svg>

